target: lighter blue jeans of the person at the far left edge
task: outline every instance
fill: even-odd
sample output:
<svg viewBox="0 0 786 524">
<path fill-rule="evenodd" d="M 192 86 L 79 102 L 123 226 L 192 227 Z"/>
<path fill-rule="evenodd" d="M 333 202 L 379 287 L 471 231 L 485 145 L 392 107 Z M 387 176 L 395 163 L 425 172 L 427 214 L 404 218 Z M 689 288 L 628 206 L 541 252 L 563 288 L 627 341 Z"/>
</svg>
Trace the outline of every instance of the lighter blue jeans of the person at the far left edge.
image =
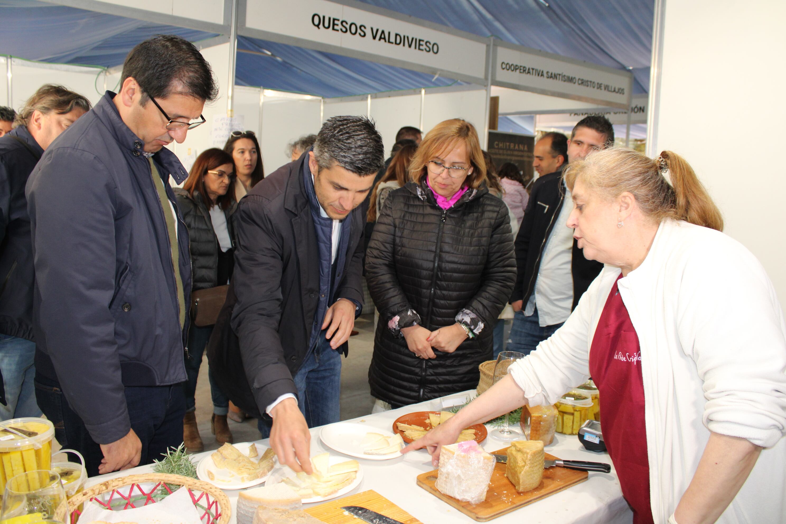
<svg viewBox="0 0 786 524">
<path fill-rule="evenodd" d="M 0 335 L 0 369 L 6 387 L 6 405 L 0 404 L 0 420 L 41 416 L 35 402 L 35 342 Z"/>
</svg>

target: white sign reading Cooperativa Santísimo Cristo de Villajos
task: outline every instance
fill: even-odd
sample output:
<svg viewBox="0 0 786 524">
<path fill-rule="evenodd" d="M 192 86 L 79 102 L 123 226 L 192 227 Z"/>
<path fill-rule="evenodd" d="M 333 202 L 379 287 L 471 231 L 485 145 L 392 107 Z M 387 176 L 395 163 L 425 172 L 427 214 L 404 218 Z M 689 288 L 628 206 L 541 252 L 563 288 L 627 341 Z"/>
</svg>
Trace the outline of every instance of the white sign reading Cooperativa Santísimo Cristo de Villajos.
<svg viewBox="0 0 786 524">
<path fill-rule="evenodd" d="M 567 93 L 587 101 L 628 103 L 630 75 L 599 70 L 506 47 L 497 48 L 494 83 L 545 94 Z M 534 88 L 534 89 L 533 89 Z"/>
</svg>

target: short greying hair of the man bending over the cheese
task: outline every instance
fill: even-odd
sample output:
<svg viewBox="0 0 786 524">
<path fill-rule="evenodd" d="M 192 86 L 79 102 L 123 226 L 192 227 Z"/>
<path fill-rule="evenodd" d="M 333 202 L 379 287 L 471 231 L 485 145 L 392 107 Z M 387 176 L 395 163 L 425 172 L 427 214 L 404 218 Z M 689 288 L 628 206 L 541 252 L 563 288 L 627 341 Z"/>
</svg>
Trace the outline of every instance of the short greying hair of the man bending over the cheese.
<svg viewBox="0 0 786 524">
<path fill-rule="evenodd" d="M 334 116 L 323 125 L 314 142 L 320 169 L 339 165 L 354 174 L 376 174 L 384 166 L 382 136 L 365 116 Z"/>
</svg>

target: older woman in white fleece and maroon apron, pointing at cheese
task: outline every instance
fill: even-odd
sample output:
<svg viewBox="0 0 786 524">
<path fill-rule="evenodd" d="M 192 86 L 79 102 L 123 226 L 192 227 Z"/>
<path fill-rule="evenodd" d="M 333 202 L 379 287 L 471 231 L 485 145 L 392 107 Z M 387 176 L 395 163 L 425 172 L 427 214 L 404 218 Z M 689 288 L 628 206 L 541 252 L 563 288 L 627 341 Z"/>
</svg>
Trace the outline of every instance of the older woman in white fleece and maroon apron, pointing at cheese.
<svg viewBox="0 0 786 524">
<path fill-rule="evenodd" d="M 438 460 L 461 428 L 592 376 L 634 522 L 786 521 L 786 324 L 761 264 L 672 152 L 608 149 L 565 176 L 567 226 L 606 266 L 562 328 L 406 451 Z"/>
</svg>

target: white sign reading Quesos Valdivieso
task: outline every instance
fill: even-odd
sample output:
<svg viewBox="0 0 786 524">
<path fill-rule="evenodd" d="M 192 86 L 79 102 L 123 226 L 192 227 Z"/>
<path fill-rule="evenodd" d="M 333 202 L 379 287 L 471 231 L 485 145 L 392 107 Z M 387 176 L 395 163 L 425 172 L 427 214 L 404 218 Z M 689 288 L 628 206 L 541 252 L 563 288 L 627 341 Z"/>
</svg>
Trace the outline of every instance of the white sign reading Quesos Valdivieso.
<svg viewBox="0 0 786 524">
<path fill-rule="evenodd" d="M 246 27 L 483 79 L 486 44 L 327 0 L 247 2 Z"/>
</svg>

